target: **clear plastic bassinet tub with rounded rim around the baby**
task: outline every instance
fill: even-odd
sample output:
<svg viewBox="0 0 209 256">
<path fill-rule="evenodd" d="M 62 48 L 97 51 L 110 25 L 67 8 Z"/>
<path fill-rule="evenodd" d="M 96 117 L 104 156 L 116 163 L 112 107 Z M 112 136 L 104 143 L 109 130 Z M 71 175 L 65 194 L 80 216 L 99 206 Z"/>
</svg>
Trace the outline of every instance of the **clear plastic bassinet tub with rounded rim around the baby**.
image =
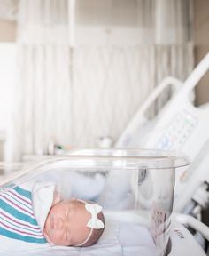
<svg viewBox="0 0 209 256">
<path fill-rule="evenodd" d="M 164 256 L 169 253 L 174 171 L 188 164 L 185 156 L 174 152 L 82 149 L 18 165 L 15 172 L 1 178 L 0 186 L 5 190 L 32 180 L 53 181 L 64 198 L 76 197 L 103 206 L 107 231 L 94 246 L 109 248 L 105 255 Z M 8 172 L 11 167 L 3 164 L 2 168 Z M 113 254 L 112 237 L 122 248 Z"/>
</svg>

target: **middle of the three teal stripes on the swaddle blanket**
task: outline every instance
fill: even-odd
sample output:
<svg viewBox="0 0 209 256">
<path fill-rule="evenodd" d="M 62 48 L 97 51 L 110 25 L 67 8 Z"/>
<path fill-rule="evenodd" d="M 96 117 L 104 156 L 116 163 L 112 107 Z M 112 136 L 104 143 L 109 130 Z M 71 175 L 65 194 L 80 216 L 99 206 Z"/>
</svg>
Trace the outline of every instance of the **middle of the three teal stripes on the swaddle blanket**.
<svg viewBox="0 0 209 256">
<path fill-rule="evenodd" d="M 35 220 L 35 218 L 31 218 L 27 214 L 19 212 L 17 209 L 12 207 L 11 205 L 5 203 L 1 198 L 0 198 L 0 208 L 2 208 L 5 212 L 10 213 L 12 216 L 14 216 L 19 220 L 27 221 L 32 225 L 37 226 L 37 221 Z"/>
</svg>

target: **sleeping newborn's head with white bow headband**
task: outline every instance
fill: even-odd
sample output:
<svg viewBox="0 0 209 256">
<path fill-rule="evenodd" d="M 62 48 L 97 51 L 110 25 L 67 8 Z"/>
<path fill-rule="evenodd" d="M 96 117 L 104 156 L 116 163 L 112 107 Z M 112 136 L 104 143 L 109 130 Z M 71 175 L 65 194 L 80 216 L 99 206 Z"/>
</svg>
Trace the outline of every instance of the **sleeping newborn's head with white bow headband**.
<svg viewBox="0 0 209 256">
<path fill-rule="evenodd" d="M 104 215 L 98 204 L 71 199 L 58 200 L 50 208 L 43 235 L 50 244 L 89 246 L 104 231 Z"/>
</svg>

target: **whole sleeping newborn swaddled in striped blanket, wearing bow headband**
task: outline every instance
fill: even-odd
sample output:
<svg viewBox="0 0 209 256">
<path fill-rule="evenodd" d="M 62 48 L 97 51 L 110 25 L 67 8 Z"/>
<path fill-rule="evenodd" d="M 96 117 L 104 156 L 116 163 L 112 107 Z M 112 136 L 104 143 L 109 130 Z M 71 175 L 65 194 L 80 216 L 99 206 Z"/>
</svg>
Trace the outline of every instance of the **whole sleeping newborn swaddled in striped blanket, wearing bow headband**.
<svg viewBox="0 0 209 256">
<path fill-rule="evenodd" d="M 103 231 L 100 205 L 63 200 L 53 183 L 36 182 L 0 193 L 1 248 L 11 248 L 12 243 L 14 250 L 16 245 L 17 250 L 47 244 L 89 246 L 97 243 Z"/>
</svg>

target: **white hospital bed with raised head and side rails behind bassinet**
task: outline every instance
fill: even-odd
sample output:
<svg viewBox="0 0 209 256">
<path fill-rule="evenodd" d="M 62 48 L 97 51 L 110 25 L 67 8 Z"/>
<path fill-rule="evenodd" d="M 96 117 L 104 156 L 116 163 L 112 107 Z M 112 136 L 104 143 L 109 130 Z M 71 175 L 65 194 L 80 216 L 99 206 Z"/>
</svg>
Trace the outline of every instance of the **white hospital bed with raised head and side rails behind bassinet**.
<svg viewBox="0 0 209 256">
<path fill-rule="evenodd" d="M 174 210 L 199 219 L 201 210 L 209 204 L 209 103 L 195 107 L 193 90 L 208 69 L 209 53 L 184 83 L 167 77 L 138 109 L 115 144 L 116 148 L 177 150 L 190 156 L 190 167 L 176 172 Z M 171 98 L 159 113 L 147 117 L 148 110 L 171 85 Z"/>
</svg>

